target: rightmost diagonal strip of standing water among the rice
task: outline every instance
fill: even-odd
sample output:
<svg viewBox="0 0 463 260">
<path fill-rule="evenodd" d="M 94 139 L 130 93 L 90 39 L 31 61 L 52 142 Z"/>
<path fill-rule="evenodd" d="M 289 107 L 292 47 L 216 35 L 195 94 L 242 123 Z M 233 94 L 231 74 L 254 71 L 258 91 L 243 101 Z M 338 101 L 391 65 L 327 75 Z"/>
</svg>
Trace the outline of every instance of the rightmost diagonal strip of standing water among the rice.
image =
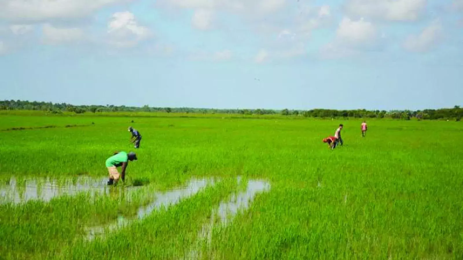
<svg viewBox="0 0 463 260">
<path fill-rule="evenodd" d="M 238 177 L 238 184 L 241 182 L 241 178 Z M 202 259 L 203 254 L 208 254 L 206 258 L 212 259 L 211 255 L 211 242 L 212 242 L 212 231 L 214 226 L 219 225 L 221 228 L 226 227 L 233 221 L 233 218 L 242 211 L 249 208 L 250 204 L 254 201 L 254 198 L 258 193 L 267 192 L 270 190 L 270 184 L 263 180 L 249 180 L 246 190 L 233 194 L 228 200 L 222 201 L 219 207 L 213 209 L 212 217 L 210 221 L 205 223 L 201 230 L 198 232 L 196 243 L 192 246 L 189 251 L 188 259 Z M 206 245 L 207 252 L 202 252 L 202 245 Z"/>
</svg>

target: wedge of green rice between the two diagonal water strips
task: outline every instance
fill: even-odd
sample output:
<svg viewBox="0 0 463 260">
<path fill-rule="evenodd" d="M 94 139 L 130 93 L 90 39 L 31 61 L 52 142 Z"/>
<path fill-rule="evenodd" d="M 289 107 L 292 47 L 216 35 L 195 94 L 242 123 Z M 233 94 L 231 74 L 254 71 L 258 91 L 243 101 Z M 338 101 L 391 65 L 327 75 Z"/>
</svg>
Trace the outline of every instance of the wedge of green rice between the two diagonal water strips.
<svg viewBox="0 0 463 260">
<path fill-rule="evenodd" d="M 179 204 L 153 212 L 130 228 L 97 238 L 77 241 L 62 252 L 62 259 L 182 259 L 196 239 L 194 231 L 211 217 L 211 209 L 236 187 L 222 180 Z"/>
</svg>

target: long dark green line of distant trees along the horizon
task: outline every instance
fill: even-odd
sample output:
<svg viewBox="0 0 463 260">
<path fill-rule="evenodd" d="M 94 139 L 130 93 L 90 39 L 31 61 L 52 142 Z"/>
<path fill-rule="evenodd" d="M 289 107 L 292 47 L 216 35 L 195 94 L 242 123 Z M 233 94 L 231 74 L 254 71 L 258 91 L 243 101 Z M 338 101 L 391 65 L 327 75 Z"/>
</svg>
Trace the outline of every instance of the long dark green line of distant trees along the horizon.
<svg viewBox="0 0 463 260">
<path fill-rule="evenodd" d="M 283 116 L 295 116 L 306 118 L 394 118 L 410 120 L 411 118 L 421 119 L 456 119 L 460 121 L 463 116 L 463 108 L 455 105 L 453 108 L 425 109 L 425 110 L 332 110 L 332 109 L 311 109 L 302 110 L 269 110 L 269 109 L 206 109 L 190 107 L 142 107 L 125 105 L 71 105 L 67 103 L 51 103 L 23 100 L 4 100 L 0 101 L 0 110 L 40 110 L 51 113 L 63 113 L 63 111 L 74 112 L 77 114 L 90 112 L 165 112 L 165 113 L 203 113 L 203 114 L 242 114 L 242 115 L 272 115 L 281 114 Z"/>
</svg>

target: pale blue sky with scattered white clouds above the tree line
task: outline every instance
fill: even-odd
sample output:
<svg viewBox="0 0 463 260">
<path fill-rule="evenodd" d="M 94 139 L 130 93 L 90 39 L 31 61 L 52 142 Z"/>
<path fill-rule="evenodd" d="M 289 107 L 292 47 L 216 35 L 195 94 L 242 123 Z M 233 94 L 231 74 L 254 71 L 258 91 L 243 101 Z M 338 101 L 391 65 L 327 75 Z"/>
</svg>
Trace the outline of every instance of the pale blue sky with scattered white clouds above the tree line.
<svg viewBox="0 0 463 260">
<path fill-rule="evenodd" d="M 463 105 L 463 0 L 0 0 L 0 99 Z"/>
</svg>

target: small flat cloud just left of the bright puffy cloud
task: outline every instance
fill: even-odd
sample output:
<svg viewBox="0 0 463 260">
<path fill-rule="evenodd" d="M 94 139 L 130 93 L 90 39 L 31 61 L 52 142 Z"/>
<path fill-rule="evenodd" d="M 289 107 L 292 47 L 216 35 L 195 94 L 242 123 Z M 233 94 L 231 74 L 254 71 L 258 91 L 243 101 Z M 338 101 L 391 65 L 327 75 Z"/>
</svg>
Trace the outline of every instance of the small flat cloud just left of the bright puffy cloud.
<svg viewBox="0 0 463 260">
<path fill-rule="evenodd" d="M 50 24 L 42 26 L 43 42 L 46 44 L 73 43 L 84 38 L 80 28 L 56 28 Z"/>
</svg>

